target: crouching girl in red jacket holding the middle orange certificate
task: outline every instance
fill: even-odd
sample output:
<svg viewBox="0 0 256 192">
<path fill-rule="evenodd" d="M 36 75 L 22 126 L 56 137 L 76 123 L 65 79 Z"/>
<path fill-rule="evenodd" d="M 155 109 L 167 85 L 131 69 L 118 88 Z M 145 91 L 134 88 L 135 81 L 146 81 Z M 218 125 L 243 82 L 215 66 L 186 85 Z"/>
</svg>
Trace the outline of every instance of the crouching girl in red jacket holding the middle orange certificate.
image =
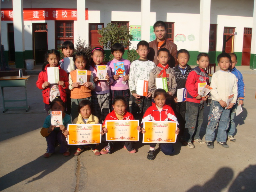
<svg viewBox="0 0 256 192">
<path fill-rule="evenodd" d="M 103 132 L 107 133 L 108 130 L 106 128 L 105 122 L 106 120 L 134 120 L 133 115 L 126 111 L 126 99 L 123 96 L 117 96 L 114 100 L 113 100 L 113 105 L 112 107 L 114 108 L 114 110 L 109 113 L 104 121 L 104 123 L 102 124 L 102 128 L 103 128 Z M 137 130 L 139 130 L 140 132 L 140 126 L 137 127 Z M 103 148 L 100 153 L 101 154 L 110 154 L 111 153 L 111 149 L 113 148 L 113 141 L 108 141 L 108 145 Z M 127 149 L 130 153 L 136 153 L 136 149 L 133 148 L 132 142 L 131 141 L 125 141 L 124 142 L 124 149 Z"/>
</svg>

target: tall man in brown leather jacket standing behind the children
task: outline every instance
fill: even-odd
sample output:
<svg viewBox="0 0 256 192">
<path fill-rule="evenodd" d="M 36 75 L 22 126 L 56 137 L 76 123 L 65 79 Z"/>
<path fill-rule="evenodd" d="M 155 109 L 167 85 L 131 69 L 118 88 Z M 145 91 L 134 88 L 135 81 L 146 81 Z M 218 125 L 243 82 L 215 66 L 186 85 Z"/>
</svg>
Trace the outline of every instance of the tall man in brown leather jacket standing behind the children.
<svg viewBox="0 0 256 192">
<path fill-rule="evenodd" d="M 153 27 L 156 40 L 149 42 L 150 52 L 148 53 L 148 60 L 151 60 L 158 65 L 157 51 L 164 47 L 170 51 L 171 59 L 168 61 L 169 67 L 175 67 L 175 64 L 178 64 L 178 61 L 176 60 L 177 45 L 165 38 L 166 24 L 163 21 L 156 21 Z"/>
</svg>

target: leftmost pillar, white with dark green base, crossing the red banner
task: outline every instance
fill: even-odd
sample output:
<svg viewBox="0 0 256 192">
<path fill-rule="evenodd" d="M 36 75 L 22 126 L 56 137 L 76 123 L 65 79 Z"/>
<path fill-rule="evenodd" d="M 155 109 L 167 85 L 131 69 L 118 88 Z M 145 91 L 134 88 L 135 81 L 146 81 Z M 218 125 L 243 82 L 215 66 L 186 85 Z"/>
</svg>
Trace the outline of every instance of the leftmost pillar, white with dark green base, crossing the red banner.
<svg viewBox="0 0 256 192">
<path fill-rule="evenodd" d="M 23 0 L 13 0 L 12 8 L 13 8 L 15 65 L 17 68 L 24 68 L 25 41 L 24 41 Z"/>
</svg>

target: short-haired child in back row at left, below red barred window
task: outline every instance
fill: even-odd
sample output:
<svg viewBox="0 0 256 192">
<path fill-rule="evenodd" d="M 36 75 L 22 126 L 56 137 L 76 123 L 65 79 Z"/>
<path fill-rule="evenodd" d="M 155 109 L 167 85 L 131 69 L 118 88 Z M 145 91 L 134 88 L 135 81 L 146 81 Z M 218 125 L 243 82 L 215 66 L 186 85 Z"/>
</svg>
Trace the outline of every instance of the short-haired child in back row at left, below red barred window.
<svg viewBox="0 0 256 192">
<path fill-rule="evenodd" d="M 65 41 L 63 42 L 63 44 L 61 45 L 61 51 L 64 54 L 64 57 L 73 57 L 73 53 L 75 50 L 75 46 L 71 41 Z M 60 60 L 60 68 L 64 68 L 64 59 Z M 69 72 L 66 70 L 68 76 L 69 76 Z M 71 114 L 71 99 L 70 99 L 70 90 L 67 89 L 66 90 L 67 93 L 67 114 L 70 115 Z"/>
</svg>

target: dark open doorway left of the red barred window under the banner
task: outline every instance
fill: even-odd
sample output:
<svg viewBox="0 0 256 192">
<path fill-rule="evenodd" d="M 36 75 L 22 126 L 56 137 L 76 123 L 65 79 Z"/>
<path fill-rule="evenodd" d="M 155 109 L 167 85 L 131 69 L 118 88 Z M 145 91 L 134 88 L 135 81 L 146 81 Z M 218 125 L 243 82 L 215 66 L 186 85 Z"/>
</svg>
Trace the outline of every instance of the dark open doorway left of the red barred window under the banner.
<svg viewBox="0 0 256 192">
<path fill-rule="evenodd" d="M 33 23 L 33 58 L 35 64 L 44 63 L 44 55 L 48 51 L 47 23 Z"/>
</svg>

